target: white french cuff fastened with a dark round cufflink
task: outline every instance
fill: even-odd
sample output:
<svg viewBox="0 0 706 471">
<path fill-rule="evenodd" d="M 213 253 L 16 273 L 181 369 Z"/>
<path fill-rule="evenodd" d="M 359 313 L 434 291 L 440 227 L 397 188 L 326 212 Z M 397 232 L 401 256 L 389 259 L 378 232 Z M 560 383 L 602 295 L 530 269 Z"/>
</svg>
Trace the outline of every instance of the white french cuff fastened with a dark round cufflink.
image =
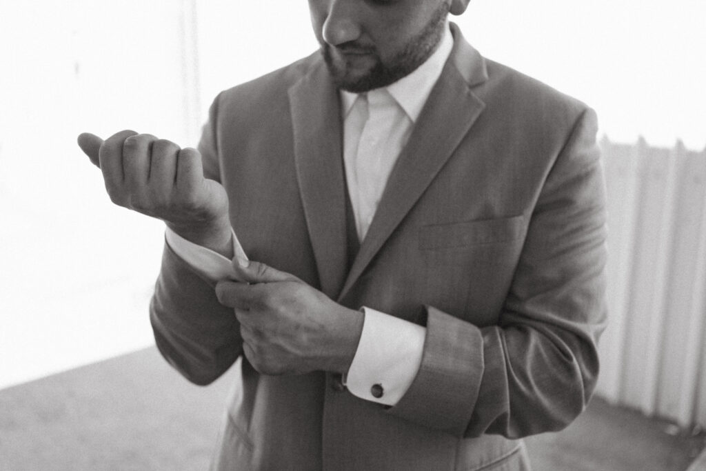
<svg viewBox="0 0 706 471">
<path fill-rule="evenodd" d="M 345 384 L 361 399 L 395 405 L 417 376 L 426 329 L 375 309 L 364 307 L 363 312 L 363 331 Z"/>
</svg>

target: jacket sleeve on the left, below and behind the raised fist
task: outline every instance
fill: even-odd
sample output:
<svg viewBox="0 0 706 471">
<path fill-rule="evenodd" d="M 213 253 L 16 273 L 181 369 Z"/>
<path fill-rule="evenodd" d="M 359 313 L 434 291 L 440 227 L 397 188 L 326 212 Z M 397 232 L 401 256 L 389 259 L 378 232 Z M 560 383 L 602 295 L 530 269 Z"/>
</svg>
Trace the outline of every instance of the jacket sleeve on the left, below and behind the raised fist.
<svg viewBox="0 0 706 471">
<path fill-rule="evenodd" d="M 210 110 L 198 150 L 205 177 L 219 180 L 215 119 Z M 218 302 L 215 283 L 193 270 L 165 242 L 162 266 L 150 303 L 157 348 L 189 381 L 215 381 L 242 352 L 240 328 L 233 310 Z"/>
</svg>

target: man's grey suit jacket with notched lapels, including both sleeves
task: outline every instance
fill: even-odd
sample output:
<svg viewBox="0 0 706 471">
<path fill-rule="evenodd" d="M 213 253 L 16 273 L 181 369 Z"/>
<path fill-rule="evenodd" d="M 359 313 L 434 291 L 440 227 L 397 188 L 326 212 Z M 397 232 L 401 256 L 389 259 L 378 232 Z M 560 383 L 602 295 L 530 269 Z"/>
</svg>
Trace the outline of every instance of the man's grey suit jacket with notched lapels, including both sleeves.
<svg viewBox="0 0 706 471">
<path fill-rule="evenodd" d="M 426 326 L 394 407 L 337 375 L 258 374 L 231 309 L 169 247 L 157 346 L 207 384 L 235 362 L 220 470 L 520 470 L 522 436 L 590 398 L 605 318 L 594 112 L 455 46 L 347 270 L 342 122 L 320 54 L 221 93 L 200 150 L 249 256 L 350 308 Z"/>
</svg>

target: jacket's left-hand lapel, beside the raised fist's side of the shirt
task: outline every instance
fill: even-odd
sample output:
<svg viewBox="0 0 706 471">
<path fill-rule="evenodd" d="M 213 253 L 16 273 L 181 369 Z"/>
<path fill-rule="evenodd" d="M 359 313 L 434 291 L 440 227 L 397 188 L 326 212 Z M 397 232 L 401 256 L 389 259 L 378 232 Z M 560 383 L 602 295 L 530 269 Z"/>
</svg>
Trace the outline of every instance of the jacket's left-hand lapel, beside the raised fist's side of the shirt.
<svg viewBox="0 0 706 471">
<path fill-rule="evenodd" d="M 323 61 L 289 89 L 294 160 L 321 290 L 335 298 L 347 266 L 342 125 Z"/>
</svg>

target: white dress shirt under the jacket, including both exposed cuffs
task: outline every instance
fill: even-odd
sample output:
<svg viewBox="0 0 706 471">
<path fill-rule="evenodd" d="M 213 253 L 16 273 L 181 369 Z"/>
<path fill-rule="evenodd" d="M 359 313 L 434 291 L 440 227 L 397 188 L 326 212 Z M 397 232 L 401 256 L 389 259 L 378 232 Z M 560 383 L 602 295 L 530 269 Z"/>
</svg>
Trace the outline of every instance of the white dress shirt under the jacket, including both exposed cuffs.
<svg viewBox="0 0 706 471">
<path fill-rule="evenodd" d="M 405 78 L 367 93 L 340 92 L 346 183 L 360 241 L 365 239 L 390 172 L 452 48 L 447 25 L 436 52 Z M 246 258 L 233 236 L 234 253 Z M 192 244 L 169 228 L 166 238 L 177 255 L 208 278 L 232 276 L 227 258 Z M 395 405 L 417 374 L 426 329 L 365 306 L 361 309 L 365 313 L 363 331 L 346 386 L 359 398 Z"/>
</svg>

